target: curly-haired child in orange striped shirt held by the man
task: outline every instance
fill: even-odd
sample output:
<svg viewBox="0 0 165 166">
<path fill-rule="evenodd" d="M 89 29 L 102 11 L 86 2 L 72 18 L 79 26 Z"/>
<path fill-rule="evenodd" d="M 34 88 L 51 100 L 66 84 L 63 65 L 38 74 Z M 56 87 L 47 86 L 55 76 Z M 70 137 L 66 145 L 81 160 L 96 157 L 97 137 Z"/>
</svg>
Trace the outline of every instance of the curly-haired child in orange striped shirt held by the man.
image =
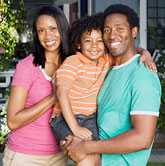
<svg viewBox="0 0 165 166">
<path fill-rule="evenodd" d="M 68 57 L 56 72 L 57 96 L 63 116 L 52 122 L 57 139 L 73 136 L 75 142 L 97 140 L 97 95 L 112 66 L 102 36 L 102 14 L 80 19 L 71 27 Z M 58 109 L 56 104 L 56 109 Z M 98 156 L 88 155 L 78 166 L 98 164 Z"/>
</svg>

